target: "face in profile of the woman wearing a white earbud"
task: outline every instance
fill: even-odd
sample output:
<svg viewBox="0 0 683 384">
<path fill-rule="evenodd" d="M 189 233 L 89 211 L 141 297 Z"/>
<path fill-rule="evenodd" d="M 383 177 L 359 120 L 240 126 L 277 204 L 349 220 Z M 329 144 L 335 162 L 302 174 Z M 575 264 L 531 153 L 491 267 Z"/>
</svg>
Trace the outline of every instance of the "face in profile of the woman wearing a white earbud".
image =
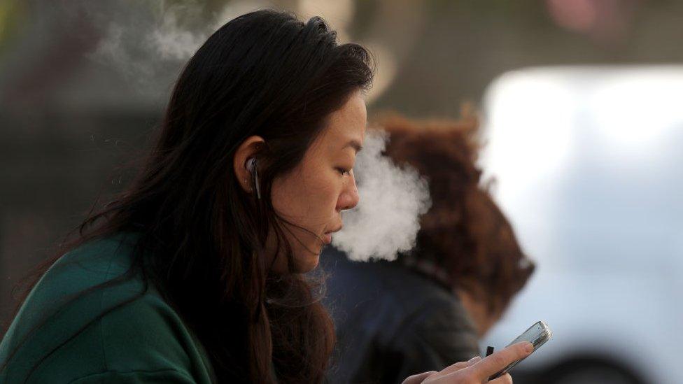
<svg viewBox="0 0 683 384">
<path fill-rule="evenodd" d="M 352 169 L 365 138 L 366 119 L 365 100 L 360 91 L 355 92 L 330 115 L 302 162 L 274 180 L 273 206 L 282 218 L 294 224 L 285 225 L 285 234 L 293 248 L 297 272 L 318 265 L 323 245 L 330 243 L 332 233 L 342 228 L 342 211 L 358 204 Z M 286 272 L 286 257 L 277 257 L 273 268 Z"/>
</svg>

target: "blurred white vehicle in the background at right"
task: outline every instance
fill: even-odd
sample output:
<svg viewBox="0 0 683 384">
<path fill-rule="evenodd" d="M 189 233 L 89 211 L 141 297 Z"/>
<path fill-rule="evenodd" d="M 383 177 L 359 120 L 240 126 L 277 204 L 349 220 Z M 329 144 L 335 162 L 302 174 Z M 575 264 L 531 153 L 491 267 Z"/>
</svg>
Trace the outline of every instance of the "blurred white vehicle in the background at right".
<svg viewBox="0 0 683 384">
<path fill-rule="evenodd" d="M 538 264 L 484 347 L 544 320 L 516 384 L 683 383 L 683 66 L 523 69 L 484 108 L 481 164 Z"/>
</svg>

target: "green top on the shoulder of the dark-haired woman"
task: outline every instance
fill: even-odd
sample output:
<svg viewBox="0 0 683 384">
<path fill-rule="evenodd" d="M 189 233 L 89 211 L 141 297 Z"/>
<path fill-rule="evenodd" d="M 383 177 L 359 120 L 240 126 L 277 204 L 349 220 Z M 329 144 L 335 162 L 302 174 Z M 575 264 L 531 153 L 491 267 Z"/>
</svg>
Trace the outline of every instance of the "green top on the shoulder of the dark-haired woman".
<svg viewBox="0 0 683 384">
<path fill-rule="evenodd" d="M 8 364 L 0 379 L 208 375 L 178 314 L 139 273 L 127 273 L 129 240 L 87 243 L 45 273 L 2 341 L 0 360 Z"/>
</svg>

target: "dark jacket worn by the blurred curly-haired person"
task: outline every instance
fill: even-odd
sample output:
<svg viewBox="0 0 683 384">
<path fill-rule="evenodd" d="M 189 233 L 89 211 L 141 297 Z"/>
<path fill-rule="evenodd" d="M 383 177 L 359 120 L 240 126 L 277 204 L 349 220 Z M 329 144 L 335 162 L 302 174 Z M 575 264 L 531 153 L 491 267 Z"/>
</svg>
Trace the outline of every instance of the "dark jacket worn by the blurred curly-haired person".
<svg viewBox="0 0 683 384">
<path fill-rule="evenodd" d="M 337 346 L 330 383 L 401 383 L 479 355 L 477 332 L 448 287 L 400 262 L 321 255 Z"/>
</svg>

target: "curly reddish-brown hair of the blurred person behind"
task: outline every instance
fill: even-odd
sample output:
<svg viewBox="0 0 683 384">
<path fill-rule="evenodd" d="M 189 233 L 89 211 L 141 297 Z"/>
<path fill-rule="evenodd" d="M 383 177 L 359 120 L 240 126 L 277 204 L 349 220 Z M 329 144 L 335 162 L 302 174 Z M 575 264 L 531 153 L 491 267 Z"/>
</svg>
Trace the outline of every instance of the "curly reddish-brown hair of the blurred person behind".
<svg viewBox="0 0 683 384">
<path fill-rule="evenodd" d="M 453 288 L 464 290 L 500 315 L 526 284 L 534 264 L 524 255 L 512 226 L 495 204 L 477 166 L 479 124 L 463 118 L 409 120 L 380 118 L 389 134 L 386 155 L 413 166 L 428 180 L 432 207 L 421 218 L 411 257 L 434 265 Z"/>
</svg>

